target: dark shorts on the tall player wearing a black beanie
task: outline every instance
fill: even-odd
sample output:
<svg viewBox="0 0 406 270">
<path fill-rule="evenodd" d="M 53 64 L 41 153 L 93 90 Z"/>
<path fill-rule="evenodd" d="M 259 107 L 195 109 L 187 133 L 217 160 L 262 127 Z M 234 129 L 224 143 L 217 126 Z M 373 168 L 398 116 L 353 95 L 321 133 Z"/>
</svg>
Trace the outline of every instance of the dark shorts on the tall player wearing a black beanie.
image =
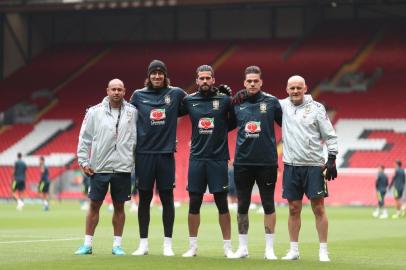
<svg viewBox="0 0 406 270">
<path fill-rule="evenodd" d="M 168 154 L 137 154 L 138 189 L 152 190 L 156 181 L 158 190 L 175 187 L 175 157 Z"/>
</svg>

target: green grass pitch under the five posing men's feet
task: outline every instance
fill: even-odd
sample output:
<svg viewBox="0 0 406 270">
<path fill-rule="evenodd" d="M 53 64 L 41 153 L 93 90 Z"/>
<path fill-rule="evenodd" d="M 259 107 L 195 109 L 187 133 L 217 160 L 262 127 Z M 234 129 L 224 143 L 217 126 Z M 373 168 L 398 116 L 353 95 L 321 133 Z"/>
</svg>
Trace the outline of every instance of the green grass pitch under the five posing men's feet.
<svg viewBox="0 0 406 270">
<path fill-rule="evenodd" d="M 328 207 L 329 252 L 332 262 L 318 261 L 318 241 L 314 218 L 309 207 L 303 209 L 299 261 L 266 261 L 261 214 L 250 212 L 248 259 L 223 257 L 220 228 L 215 206 L 201 210 L 199 250 L 195 258 L 182 258 L 188 247 L 187 206 L 176 209 L 173 246 L 175 257 L 162 255 L 163 228 L 161 211 L 151 209 L 150 255 L 115 257 L 111 255 L 111 213 L 101 209 L 100 223 L 93 242 L 93 255 L 75 256 L 83 242 L 85 212 L 78 202 L 51 202 L 44 212 L 40 205 L 0 204 L 0 269 L 406 269 L 406 219 L 378 220 L 372 208 Z M 128 207 L 126 208 L 128 210 Z M 289 247 L 287 207 L 277 208 L 275 253 L 281 258 Z M 232 214 L 233 249 L 238 246 L 236 214 Z M 138 246 L 135 213 L 127 211 L 123 248 L 131 254 Z"/>
</svg>

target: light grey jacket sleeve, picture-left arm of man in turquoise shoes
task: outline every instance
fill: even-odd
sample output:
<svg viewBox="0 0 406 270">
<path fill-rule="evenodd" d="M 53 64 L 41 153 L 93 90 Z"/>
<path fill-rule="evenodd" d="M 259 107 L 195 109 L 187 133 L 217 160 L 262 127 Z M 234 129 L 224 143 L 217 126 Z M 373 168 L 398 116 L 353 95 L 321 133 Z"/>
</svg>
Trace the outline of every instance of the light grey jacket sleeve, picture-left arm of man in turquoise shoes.
<svg viewBox="0 0 406 270">
<path fill-rule="evenodd" d="M 88 166 L 90 164 L 89 154 L 90 147 L 93 140 L 93 113 L 94 111 L 90 108 L 83 119 L 82 127 L 79 133 L 79 143 L 78 143 L 78 163 L 81 167 Z"/>
</svg>

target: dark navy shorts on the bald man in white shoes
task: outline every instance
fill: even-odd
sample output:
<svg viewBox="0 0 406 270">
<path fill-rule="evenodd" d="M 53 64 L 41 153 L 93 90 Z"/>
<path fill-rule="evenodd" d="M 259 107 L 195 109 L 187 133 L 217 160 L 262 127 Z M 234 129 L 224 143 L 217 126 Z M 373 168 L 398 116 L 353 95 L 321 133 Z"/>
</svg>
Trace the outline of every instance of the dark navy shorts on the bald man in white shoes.
<svg viewBox="0 0 406 270">
<path fill-rule="evenodd" d="M 322 167 L 284 165 L 282 197 L 291 201 L 302 200 L 303 194 L 309 199 L 328 196 L 327 183 Z"/>
</svg>

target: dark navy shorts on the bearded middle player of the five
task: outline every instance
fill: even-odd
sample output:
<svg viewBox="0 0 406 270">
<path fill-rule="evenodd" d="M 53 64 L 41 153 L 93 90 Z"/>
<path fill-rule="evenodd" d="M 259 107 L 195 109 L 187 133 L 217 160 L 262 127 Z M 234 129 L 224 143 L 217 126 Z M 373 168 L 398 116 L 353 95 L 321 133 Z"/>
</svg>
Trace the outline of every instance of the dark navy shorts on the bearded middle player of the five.
<svg viewBox="0 0 406 270">
<path fill-rule="evenodd" d="M 203 194 L 209 187 L 210 193 L 228 191 L 227 160 L 189 160 L 189 192 Z"/>
</svg>

